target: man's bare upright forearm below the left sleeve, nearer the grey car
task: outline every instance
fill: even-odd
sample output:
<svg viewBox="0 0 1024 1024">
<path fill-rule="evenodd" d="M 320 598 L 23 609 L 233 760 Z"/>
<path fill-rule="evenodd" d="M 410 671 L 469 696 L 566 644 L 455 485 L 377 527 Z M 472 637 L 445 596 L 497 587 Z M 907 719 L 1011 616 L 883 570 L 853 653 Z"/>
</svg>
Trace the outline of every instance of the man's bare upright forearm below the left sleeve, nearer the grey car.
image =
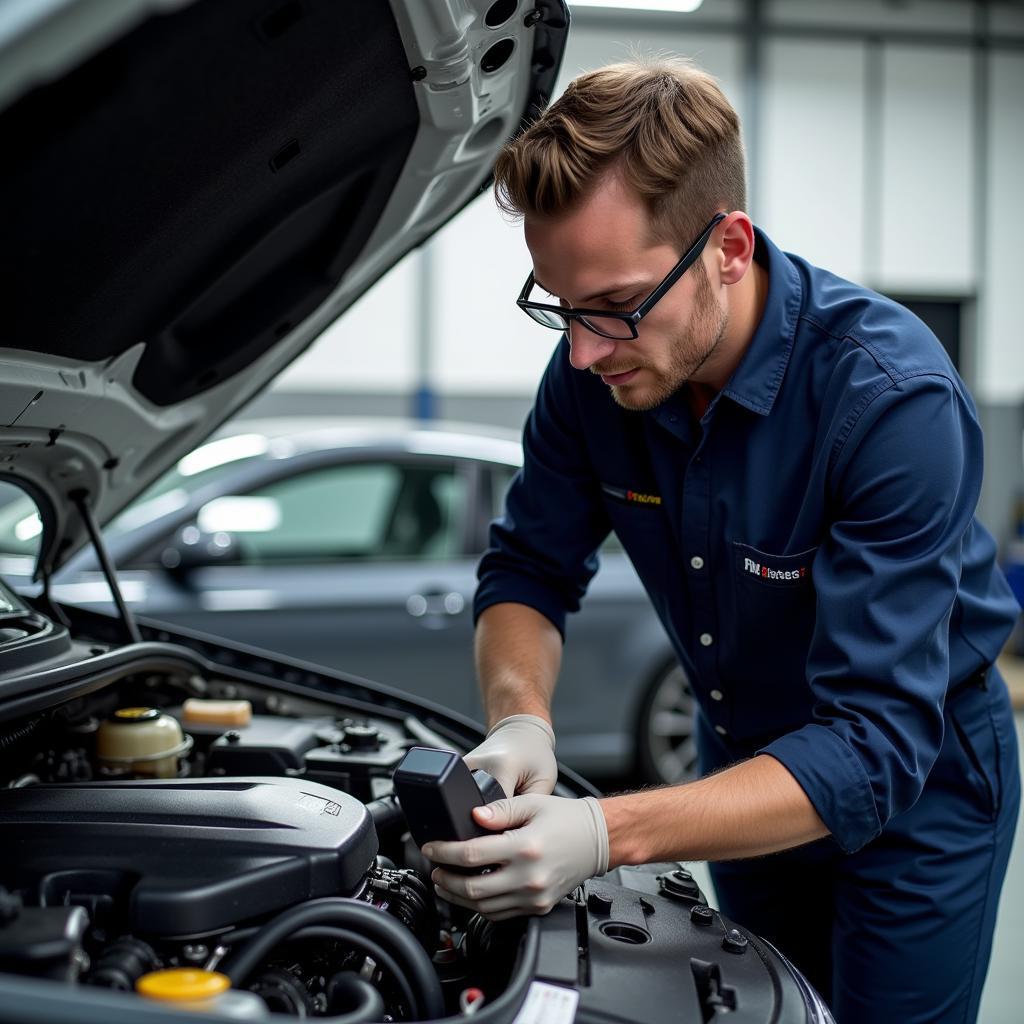
<svg viewBox="0 0 1024 1024">
<path fill-rule="evenodd" d="M 476 675 L 487 726 L 509 715 L 551 721 L 562 638 L 525 604 L 494 604 L 476 624 Z"/>
</svg>

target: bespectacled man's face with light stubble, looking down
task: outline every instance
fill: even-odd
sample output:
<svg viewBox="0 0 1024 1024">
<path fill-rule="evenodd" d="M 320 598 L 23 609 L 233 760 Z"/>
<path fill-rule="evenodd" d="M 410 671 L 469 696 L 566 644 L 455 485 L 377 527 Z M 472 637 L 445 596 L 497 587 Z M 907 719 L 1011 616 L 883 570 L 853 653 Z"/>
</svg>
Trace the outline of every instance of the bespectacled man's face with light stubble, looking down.
<svg viewBox="0 0 1024 1024">
<path fill-rule="evenodd" d="M 539 288 L 567 306 L 632 311 L 682 256 L 653 239 L 646 207 L 617 175 L 566 216 L 527 217 L 525 234 Z M 625 409 L 653 409 L 700 379 L 726 324 L 698 261 L 640 322 L 636 340 L 602 338 L 571 322 L 569 361 L 599 375 Z"/>
</svg>

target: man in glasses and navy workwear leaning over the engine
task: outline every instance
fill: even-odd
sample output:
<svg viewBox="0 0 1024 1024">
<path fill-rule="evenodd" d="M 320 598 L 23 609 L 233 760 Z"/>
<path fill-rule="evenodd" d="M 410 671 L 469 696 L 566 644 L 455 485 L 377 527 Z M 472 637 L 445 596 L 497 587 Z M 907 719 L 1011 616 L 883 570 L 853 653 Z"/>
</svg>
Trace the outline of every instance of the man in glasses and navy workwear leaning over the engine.
<svg viewBox="0 0 1024 1024">
<path fill-rule="evenodd" d="M 916 317 L 753 226 L 744 173 L 735 112 L 673 60 L 581 76 L 499 160 L 519 305 L 563 332 L 475 603 L 492 727 L 466 760 L 516 796 L 475 812 L 496 835 L 424 852 L 494 920 L 709 860 L 843 1024 L 974 1020 L 1020 800 L 977 414 Z M 691 681 L 702 777 L 575 801 L 550 795 L 551 697 L 611 529 Z"/>
</svg>

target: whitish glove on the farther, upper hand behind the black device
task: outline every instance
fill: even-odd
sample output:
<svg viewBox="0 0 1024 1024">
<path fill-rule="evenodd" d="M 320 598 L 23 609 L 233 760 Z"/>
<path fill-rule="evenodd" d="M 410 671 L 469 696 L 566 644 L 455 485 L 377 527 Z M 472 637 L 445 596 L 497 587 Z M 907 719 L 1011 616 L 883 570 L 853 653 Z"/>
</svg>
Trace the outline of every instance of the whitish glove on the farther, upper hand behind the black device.
<svg viewBox="0 0 1024 1024">
<path fill-rule="evenodd" d="M 537 715 L 510 715 L 493 725 L 486 739 L 463 758 L 471 771 L 482 768 L 507 797 L 548 794 L 558 781 L 555 734 Z"/>
</svg>

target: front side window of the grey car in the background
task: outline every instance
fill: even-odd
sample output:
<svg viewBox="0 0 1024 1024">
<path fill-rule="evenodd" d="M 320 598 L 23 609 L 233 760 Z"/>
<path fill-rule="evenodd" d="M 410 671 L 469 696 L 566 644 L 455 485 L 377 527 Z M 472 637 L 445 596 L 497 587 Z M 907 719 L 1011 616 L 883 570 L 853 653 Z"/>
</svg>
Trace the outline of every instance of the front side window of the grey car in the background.
<svg viewBox="0 0 1024 1024">
<path fill-rule="evenodd" d="M 196 526 L 242 564 L 451 557 L 465 484 L 447 465 L 350 463 L 208 502 Z"/>
</svg>

